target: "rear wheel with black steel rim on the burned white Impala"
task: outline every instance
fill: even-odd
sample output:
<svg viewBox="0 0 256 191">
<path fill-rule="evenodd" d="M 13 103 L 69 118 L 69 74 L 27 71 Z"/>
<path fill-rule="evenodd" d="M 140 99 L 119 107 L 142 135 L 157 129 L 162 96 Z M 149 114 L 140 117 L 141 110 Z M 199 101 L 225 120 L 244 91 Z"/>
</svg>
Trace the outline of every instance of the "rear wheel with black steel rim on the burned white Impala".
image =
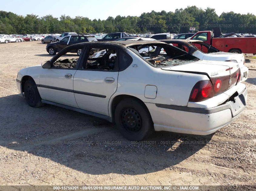
<svg viewBox="0 0 256 191">
<path fill-rule="evenodd" d="M 140 141 L 154 132 L 154 124 L 147 107 L 132 98 L 118 103 L 115 109 L 115 123 L 121 134 L 131 141 Z"/>
</svg>

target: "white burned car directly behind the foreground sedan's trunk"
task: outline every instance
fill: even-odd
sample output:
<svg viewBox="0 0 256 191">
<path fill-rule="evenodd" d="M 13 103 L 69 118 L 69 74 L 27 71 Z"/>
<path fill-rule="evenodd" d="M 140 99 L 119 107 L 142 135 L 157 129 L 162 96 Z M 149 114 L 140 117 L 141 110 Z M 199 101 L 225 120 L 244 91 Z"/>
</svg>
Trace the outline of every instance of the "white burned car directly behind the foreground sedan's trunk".
<svg viewBox="0 0 256 191">
<path fill-rule="evenodd" d="M 225 53 L 216 49 L 215 47 L 201 41 L 201 40 L 160 40 L 168 44 L 177 46 L 180 49 L 198 57 L 202 60 L 215 60 L 215 61 L 226 61 L 234 62 L 239 65 L 241 70 L 241 82 L 248 78 L 248 68 L 244 65 L 245 59 L 243 54 Z M 207 52 L 207 53 L 205 53 Z"/>
</svg>

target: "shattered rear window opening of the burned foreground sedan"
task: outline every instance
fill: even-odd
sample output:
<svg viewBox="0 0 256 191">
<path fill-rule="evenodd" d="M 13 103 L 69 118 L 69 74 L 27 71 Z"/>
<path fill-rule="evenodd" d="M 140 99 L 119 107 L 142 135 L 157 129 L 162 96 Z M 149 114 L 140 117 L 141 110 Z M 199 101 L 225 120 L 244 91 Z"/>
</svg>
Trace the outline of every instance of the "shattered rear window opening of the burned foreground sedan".
<svg viewBox="0 0 256 191">
<path fill-rule="evenodd" d="M 149 43 L 134 45 L 129 48 L 155 68 L 182 65 L 199 60 L 197 57 L 168 44 Z"/>
</svg>

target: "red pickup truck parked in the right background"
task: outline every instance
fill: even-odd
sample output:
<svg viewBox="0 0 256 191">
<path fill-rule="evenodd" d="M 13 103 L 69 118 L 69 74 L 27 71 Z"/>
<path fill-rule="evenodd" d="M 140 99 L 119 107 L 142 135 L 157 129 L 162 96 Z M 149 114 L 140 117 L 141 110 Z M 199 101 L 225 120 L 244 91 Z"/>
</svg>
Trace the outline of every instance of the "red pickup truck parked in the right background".
<svg viewBox="0 0 256 191">
<path fill-rule="evenodd" d="M 222 52 L 256 54 L 256 37 L 213 38 L 212 31 L 199 31 L 191 40 L 202 40 Z M 208 52 L 206 49 L 202 51 Z"/>
</svg>

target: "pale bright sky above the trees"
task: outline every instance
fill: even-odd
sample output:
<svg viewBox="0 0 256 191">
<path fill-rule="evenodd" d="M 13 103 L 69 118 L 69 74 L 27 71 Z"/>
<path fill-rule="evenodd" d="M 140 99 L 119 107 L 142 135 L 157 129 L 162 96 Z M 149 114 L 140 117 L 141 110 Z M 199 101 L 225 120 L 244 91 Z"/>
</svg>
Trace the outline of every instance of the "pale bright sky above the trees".
<svg viewBox="0 0 256 191">
<path fill-rule="evenodd" d="M 159 3 L 158 3 L 159 2 Z M 256 3 L 255 3 L 256 4 Z M 198 8 L 205 9 L 207 7 L 214 8 L 216 13 L 220 15 L 222 12 L 234 11 L 235 13 L 256 14 L 255 6 L 251 3 L 242 3 L 227 0 L 209 0 L 209 1 L 151 1 L 151 0 L 84 0 L 84 1 L 35 1 L 26 0 L 8 0 L 1 3 L 0 10 L 11 11 L 18 15 L 25 16 L 26 14 L 35 14 L 39 17 L 47 14 L 52 14 L 53 17 L 59 18 L 62 14 L 69 15 L 72 18 L 75 16 L 88 17 L 89 19 L 107 19 L 109 16 L 140 16 L 143 12 L 162 11 L 166 12 L 175 11 L 175 9 L 186 8 L 187 6 L 195 5 Z M 252 6 L 250 6 L 252 5 Z"/>
</svg>

